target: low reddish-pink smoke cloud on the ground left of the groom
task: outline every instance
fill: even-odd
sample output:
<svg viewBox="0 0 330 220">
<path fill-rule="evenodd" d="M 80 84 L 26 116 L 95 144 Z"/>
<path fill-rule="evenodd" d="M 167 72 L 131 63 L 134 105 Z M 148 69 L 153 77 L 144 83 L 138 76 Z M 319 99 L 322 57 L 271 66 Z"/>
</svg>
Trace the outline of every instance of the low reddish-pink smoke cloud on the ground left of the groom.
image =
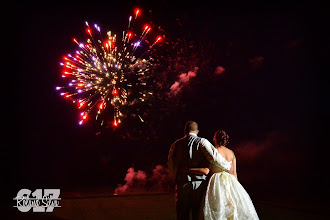
<svg viewBox="0 0 330 220">
<path fill-rule="evenodd" d="M 145 171 L 135 171 L 133 167 L 130 167 L 124 180 L 125 184 L 119 184 L 114 195 L 165 193 L 174 189 L 169 171 L 162 165 L 156 165 L 151 176 L 148 176 Z"/>
</svg>

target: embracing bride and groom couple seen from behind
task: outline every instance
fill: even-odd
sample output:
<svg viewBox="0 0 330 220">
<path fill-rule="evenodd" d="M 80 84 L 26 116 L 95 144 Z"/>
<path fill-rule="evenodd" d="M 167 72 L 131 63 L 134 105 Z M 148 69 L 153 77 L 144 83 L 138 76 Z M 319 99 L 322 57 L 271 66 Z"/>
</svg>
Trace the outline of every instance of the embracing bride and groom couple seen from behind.
<svg viewBox="0 0 330 220">
<path fill-rule="evenodd" d="M 236 157 L 226 148 L 229 136 L 218 130 L 215 147 L 198 137 L 198 124 L 188 121 L 185 137 L 171 145 L 168 167 L 176 183 L 176 218 L 212 220 L 259 219 L 250 196 L 238 182 Z"/>
</svg>

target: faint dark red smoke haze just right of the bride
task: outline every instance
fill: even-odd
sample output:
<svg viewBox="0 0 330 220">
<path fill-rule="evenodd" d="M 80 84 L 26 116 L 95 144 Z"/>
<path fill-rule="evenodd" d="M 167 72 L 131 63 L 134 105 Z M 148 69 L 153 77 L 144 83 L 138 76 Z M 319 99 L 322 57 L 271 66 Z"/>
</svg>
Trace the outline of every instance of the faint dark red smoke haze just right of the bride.
<svg viewBox="0 0 330 220">
<path fill-rule="evenodd" d="M 284 172 L 300 170 L 303 158 L 292 148 L 294 133 L 270 132 L 258 140 L 234 146 L 238 178 L 257 184 Z M 294 158 L 294 160 L 293 160 Z"/>
</svg>

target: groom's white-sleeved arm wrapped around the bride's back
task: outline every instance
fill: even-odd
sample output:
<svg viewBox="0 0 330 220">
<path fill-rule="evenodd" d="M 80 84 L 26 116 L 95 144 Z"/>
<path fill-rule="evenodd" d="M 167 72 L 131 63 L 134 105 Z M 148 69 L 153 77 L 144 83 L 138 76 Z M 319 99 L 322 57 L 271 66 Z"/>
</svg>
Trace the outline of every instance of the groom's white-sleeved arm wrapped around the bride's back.
<svg viewBox="0 0 330 220">
<path fill-rule="evenodd" d="M 230 163 L 218 152 L 218 150 L 205 138 L 201 139 L 199 144 L 206 159 L 216 166 L 225 170 L 230 170 Z"/>
</svg>

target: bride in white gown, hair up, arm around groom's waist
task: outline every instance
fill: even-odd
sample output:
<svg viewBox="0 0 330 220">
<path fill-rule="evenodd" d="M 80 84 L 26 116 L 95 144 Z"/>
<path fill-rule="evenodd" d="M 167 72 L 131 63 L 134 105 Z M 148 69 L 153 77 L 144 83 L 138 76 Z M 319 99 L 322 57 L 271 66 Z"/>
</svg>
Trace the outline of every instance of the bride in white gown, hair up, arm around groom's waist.
<svg viewBox="0 0 330 220">
<path fill-rule="evenodd" d="M 224 130 L 218 130 L 213 138 L 218 152 L 231 165 L 229 172 L 217 166 L 207 168 L 190 168 L 189 173 L 209 174 L 210 180 L 205 194 L 203 208 L 204 219 L 208 220 L 256 220 L 259 219 L 249 194 L 238 182 L 236 157 L 234 152 L 225 146 L 229 136 Z"/>
</svg>

